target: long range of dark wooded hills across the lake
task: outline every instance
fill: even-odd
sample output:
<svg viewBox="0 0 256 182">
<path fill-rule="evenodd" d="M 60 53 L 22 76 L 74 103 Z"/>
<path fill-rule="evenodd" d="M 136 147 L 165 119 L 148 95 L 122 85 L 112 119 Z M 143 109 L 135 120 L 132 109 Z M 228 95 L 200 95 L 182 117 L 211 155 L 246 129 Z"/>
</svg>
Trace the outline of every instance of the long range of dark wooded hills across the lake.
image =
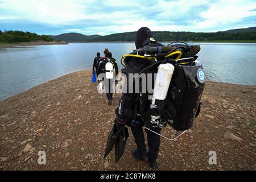
<svg viewBox="0 0 256 182">
<path fill-rule="evenodd" d="M 82 35 L 77 33 L 51 36 L 52 39 L 66 42 L 132 42 L 136 32 L 125 32 L 111 35 Z M 159 42 L 164 41 L 255 41 L 256 27 L 234 29 L 222 32 L 170 32 L 154 31 L 154 38 Z"/>
</svg>

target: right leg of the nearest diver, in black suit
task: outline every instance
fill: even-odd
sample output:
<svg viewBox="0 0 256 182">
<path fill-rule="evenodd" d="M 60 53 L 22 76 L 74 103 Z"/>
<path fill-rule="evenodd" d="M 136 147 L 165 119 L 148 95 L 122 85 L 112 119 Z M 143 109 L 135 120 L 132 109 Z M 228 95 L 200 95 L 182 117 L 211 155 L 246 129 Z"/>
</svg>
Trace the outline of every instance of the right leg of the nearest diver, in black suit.
<svg viewBox="0 0 256 182">
<path fill-rule="evenodd" d="M 160 134 L 161 129 L 159 127 L 151 127 L 152 131 Z M 158 151 L 160 148 L 160 136 L 153 133 L 152 131 L 146 130 L 147 133 L 147 144 L 149 148 L 148 161 L 155 162 L 158 158 Z"/>
</svg>

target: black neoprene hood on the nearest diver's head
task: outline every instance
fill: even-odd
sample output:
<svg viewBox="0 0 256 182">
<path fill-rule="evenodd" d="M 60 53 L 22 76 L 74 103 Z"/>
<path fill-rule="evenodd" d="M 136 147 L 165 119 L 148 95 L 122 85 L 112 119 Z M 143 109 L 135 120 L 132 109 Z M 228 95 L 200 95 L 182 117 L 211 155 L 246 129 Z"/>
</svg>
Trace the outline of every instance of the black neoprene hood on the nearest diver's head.
<svg viewBox="0 0 256 182">
<path fill-rule="evenodd" d="M 151 42 L 152 32 L 147 27 L 141 27 L 135 36 L 135 46 L 136 49 L 141 48 Z"/>
</svg>

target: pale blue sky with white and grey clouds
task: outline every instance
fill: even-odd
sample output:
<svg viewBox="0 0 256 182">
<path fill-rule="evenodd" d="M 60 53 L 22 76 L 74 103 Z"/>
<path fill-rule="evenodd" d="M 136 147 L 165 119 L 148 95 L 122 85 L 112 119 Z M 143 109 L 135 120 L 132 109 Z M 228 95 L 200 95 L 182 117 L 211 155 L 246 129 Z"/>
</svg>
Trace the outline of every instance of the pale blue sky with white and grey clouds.
<svg viewBox="0 0 256 182">
<path fill-rule="evenodd" d="M 0 0 L 0 30 L 59 35 L 137 31 L 216 32 L 256 26 L 255 0 Z"/>
</svg>

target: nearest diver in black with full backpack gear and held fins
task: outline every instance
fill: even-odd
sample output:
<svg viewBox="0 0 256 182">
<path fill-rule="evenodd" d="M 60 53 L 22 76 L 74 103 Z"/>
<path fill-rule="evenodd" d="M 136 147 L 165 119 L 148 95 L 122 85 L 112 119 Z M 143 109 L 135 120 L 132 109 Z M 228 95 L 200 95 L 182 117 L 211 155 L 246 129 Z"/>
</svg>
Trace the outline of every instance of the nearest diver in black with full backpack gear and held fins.
<svg viewBox="0 0 256 182">
<path fill-rule="evenodd" d="M 133 52 L 121 59 L 125 66 L 122 69 L 126 74 L 125 85 L 115 110 L 117 117 L 107 140 L 104 158 L 113 148 L 115 162 L 121 158 L 129 138 L 127 125 L 131 127 L 137 144 L 132 150 L 133 157 L 148 160 L 150 167 L 156 169 L 160 136 L 164 137 L 160 135 L 161 129 L 167 124 L 175 129 L 175 138 L 164 137 L 174 140 L 193 126 L 200 113 L 206 77 L 203 66 L 196 61 L 199 45 L 173 42 L 163 46 L 155 42 L 147 27 L 142 27 L 136 34 L 135 46 Z M 154 78 L 152 74 L 155 73 Z M 142 127 L 146 129 L 148 149 Z"/>
</svg>

